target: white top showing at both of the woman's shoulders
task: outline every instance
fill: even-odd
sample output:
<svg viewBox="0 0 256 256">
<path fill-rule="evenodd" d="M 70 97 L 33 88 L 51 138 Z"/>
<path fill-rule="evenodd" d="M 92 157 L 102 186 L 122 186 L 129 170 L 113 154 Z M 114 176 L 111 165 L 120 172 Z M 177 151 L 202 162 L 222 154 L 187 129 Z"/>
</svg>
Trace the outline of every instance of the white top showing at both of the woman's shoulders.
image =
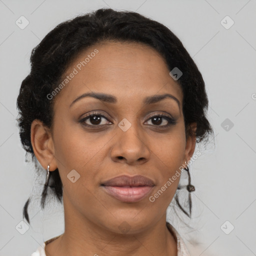
<svg viewBox="0 0 256 256">
<path fill-rule="evenodd" d="M 168 227 L 168 229 L 173 232 L 171 232 L 172 234 L 174 234 L 174 238 L 177 241 L 177 256 L 190 256 L 188 249 L 184 243 L 184 241 L 182 240 L 182 238 L 180 237 L 180 235 L 178 234 L 177 230 L 168 222 L 166 222 L 166 225 Z M 53 241 L 54 239 L 58 238 L 60 235 L 55 236 L 47 241 L 45 241 L 42 245 L 40 245 L 35 252 L 33 252 L 31 254 L 31 256 L 46 256 L 45 255 L 45 244 Z"/>
</svg>

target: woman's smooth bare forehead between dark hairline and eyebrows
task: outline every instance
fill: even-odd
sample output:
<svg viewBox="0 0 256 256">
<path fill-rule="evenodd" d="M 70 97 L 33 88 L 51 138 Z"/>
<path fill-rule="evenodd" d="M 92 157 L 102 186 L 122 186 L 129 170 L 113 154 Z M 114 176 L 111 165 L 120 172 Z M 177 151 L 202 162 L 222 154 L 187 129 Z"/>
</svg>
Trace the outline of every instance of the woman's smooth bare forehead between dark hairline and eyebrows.
<svg viewBox="0 0 256 256">
<path fill-rule="evenodd" d="M 182 101 L 180 85 L 169 75 L 164 58 L 142 43 L 108 41 L 90 46 L 70 63 L 62 84 L 60 100 L 69 104 L 90 91 L 115 95 L 117 103 L 162 93 Z"/>
</svg>

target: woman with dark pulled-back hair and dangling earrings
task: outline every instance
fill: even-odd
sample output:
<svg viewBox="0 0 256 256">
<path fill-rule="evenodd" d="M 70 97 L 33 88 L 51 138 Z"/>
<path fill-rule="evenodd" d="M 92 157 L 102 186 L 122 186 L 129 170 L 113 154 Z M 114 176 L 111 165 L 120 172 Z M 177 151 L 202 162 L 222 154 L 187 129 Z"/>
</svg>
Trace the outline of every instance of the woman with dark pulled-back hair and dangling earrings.
<svg viewBox="0 0 256 256">
<path fill-rule="evenodd" d="M 57 25 L 30 60 L 20 138 L 47 170 L 41 206 L 49 186 L 65 221 L 32 255 L 189 255 L 166 209 L 174 197 L 190 216 L 174 195 L 212 128 L 180 40 L 138 13 L 98 9 Z"/>
</svg>

